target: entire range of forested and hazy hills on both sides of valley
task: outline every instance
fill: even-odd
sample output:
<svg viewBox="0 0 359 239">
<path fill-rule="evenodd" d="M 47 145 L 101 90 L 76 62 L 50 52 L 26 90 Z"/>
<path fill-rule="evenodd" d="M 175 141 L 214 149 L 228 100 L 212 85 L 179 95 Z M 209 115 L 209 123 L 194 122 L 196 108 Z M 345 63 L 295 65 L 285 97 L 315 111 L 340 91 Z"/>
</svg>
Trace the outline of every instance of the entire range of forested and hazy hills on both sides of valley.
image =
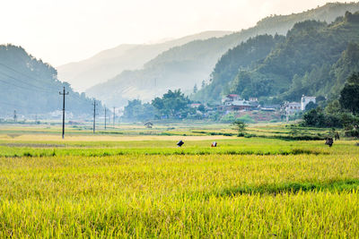
<svg viewBox="0 0 359 239">
<path fill-rule="evenodd" d="M 175 89 L 213 103 L 227 93 L 272 102 L 297 100 L 302 94 L 337 98 L 347 76 L 359 71 L 357 11 L 357 3 L 326 4 L 304 13 L 267 17 L 240 32 L 211 31 L 148 46 L 120 46 L 78 65 L 83 64 L 84 75 L 102 75 L 111 67 L 112 74 L 117 73 L 86 90 L 109 107 L 126 106 L 133 98 L 150 101 Z M 131 67 L 138 69 L 124 70 Z M 203 81 L 204 87 L 192 94 Z M 92 114 L 94 98 L 60 81 L 53 66 L 22 47 L 0 46 L 1 115 L 12 115 L 15 109 L 23 115 L 61 110 L 58 91 L 64 87 L 69 91 L 66 110 Z M 100 104 L 98 111 L 102 110 Z"/>
</svg>

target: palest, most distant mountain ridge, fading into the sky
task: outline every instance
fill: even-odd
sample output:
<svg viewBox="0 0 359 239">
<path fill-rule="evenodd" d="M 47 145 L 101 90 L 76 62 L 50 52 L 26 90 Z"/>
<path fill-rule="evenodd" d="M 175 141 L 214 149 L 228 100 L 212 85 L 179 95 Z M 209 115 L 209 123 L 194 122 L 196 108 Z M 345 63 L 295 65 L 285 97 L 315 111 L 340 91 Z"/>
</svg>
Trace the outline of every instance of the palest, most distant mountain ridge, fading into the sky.
<svg viewBox="0 0 359 239">
<path fill-rule="evenodd" d="M 231 31 L 205 31 L 184 38 L 172 39 L 158 44 L 124 44 L 101 51 L 77 63 L 57 67 L 59 79 L 68 81 L 75 90 L 86 90 L 97 83 L 115 77 L 124 70 L 143 68 L 156 55 L 171 47 L 186 44 L 192 40 L 222 37 Z"/>
</svg>

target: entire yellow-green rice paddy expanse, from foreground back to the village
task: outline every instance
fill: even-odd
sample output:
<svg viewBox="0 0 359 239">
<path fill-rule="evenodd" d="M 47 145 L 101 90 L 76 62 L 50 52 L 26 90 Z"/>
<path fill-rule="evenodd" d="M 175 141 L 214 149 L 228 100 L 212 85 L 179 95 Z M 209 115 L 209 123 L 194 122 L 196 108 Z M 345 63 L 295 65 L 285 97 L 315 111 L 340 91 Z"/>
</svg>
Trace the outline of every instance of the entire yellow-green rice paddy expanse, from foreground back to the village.
<svg viewBox="0 0 359 239">
<path fill-rule="evenodd" d="M 249 132 L 76 127 L 62 140 L 57 126 L 0 125 L 0 237 L 359 237 L 359 141 Z"/>
</svg>

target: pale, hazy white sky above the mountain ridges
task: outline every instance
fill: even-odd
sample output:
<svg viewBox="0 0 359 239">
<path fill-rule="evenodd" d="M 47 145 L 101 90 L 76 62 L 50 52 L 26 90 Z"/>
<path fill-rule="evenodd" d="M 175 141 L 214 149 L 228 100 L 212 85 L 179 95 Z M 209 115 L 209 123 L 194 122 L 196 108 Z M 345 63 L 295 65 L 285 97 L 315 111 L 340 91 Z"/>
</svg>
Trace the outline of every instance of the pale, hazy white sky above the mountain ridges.
<svg viewBox="0 0 359 239">
<path fill-rule="evenodd" d="M 57 66 L 123 43 L 246 29 L 270 14 L 328 2 L 334 0 L 1 0 L 0 44 Z"/>
</svg>

